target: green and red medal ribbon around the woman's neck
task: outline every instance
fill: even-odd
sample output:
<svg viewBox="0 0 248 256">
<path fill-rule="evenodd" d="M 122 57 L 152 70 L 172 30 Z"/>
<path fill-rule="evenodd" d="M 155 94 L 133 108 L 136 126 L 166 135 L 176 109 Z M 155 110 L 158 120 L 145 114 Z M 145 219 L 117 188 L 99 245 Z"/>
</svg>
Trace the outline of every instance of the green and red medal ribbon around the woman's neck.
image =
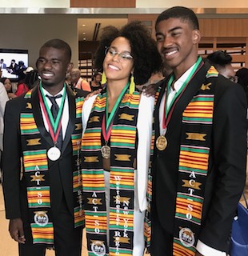
<svg viewBox="0 0 248 256">
<path fill-rule="evenodd" d="M 106 114 L 103 115 L 103 119 L 102 119 L 102 136 L 103 136 L 105 142 L 107 142 L 110 138 L 110 134 L 111 134 L 111 130 L 112 130 L 113 122 L 114 122 L 114 116 L 118 111 L 118 107 L 120 106 L 122 98 L 123 98 L 124 94 L 126 93 L 126 90 L 129 85 L 130 85 L 130 82 L 128 82 L 126 84 L 126 86 L 123 88 L 121 94 L 118 96 L 117 101 L 114 103 L 113 110 L 110 113 L 110 116 L 109 116 L 109 111 L 108 111 L 109 104 L 108 104 L 108 97 L 107 97 L 107 92 L 106 92 L 106 110 L 105 110 Z"/>
</svg>

